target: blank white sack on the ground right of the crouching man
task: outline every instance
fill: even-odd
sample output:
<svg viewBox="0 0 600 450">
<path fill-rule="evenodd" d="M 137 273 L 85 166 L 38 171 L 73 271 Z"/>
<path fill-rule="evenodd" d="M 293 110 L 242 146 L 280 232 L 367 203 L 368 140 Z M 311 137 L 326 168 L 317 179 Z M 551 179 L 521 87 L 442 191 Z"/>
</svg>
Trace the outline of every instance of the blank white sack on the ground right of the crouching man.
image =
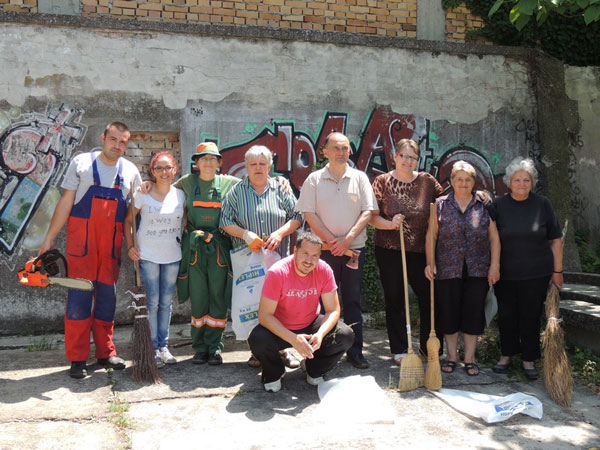
<svg viewBox="0 0 600 450">
<path fill-rule="evenodd" d="M 396 420 L 389 399 L 372 376 L 335 378 L 321 383 L 317 391 L 321 400 L 317 420 L 324 423 L 393 424 Z"/>
</svg>

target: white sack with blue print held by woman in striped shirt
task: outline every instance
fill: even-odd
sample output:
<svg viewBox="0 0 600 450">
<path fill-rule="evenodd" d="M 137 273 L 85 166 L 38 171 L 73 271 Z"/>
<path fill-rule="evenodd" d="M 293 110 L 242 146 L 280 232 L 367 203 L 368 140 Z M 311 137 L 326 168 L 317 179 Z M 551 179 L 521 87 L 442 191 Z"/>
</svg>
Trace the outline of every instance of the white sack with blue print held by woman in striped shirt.
<svg viewBox="0 0 600 450">
<path fill-rule="evenodd" d="M 279 259 L 279 253 L 264 249 L 253 252 L 248 247 L 240 247 L 231 251 L 231 325 L 236 339 L 248 339 L 258 324 L 258 305 L 265 276 L 268 268 Z"/>
</svg>

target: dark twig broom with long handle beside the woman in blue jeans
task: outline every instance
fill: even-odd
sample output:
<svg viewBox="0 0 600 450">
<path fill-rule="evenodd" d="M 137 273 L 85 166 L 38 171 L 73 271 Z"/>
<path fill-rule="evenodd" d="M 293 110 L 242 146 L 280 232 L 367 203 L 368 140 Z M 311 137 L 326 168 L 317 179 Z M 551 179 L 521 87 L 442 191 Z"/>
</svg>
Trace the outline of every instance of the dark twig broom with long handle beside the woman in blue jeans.
<svg viewBox="0 0 600 450">
<path fill-rule="evenodd" d="M 131 214 L 133 215 L 133 183 L 129 191 L 131 196 Z M 137 226 L 135 217 L 132 220 L 133 226 L 133 245 L 138 248 Z M 146 306 L 146 293 L 140 280 L 140 262 L 134 261 L 135 266 L 135 287 L 134 292 L 128 291 L 133 302 L 131 308 L 134 309 L 133 333 L 131 333 L 131 344 L 133 347 L 133 379 L 138 382 L 160 383 L 158 366 L 154 359 L 154 346 L 150 335 L 150 322 L 148 322 L 148 308 Z"/>
</svg>

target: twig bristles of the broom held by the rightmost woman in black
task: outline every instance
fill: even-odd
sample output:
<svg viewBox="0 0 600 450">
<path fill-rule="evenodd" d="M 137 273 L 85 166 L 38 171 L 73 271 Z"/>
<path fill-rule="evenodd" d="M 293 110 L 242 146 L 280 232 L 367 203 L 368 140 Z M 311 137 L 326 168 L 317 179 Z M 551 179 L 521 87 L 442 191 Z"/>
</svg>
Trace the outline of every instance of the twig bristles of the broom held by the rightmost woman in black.
<svg viewBox="0 0 600 450">
<path fill-rule="evenodd" d="M 546 297 L 548 323 L 542 335 L 544 349 L 544 384 L 550 397 L 561 406 L 571 406 L 573 376 L 564 346 L 564 331 L 560 325 L 560 293 L 552 284 Z"/>
</svg>

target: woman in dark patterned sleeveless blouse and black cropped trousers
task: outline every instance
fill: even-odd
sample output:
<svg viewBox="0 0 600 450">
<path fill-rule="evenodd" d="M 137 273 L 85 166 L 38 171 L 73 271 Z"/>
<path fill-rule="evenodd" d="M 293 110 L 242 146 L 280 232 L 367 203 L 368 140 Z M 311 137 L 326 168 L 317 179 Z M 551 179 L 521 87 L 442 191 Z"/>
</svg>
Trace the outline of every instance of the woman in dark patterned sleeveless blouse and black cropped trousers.
<svg viewBox="0 0 600 450">
<path fill-rule="evenodd" d="M 448 349 L 442 370 L 456 368 L 462 331 L 464 368 L 470 376 L 479 375 L 475 349 L 485 327 L 485 297 L 500 278 L 500 238 L 487 207 L 474 195 L 475 177 L 469 163 L 454 163 L 452 192 L 436 200 L 437 221 L 427 231 L 425 267 L 425 276 L 436 280 L 439 327 Z M 431 240 L 437 243 L 435 265 Z"/>
</svg>

